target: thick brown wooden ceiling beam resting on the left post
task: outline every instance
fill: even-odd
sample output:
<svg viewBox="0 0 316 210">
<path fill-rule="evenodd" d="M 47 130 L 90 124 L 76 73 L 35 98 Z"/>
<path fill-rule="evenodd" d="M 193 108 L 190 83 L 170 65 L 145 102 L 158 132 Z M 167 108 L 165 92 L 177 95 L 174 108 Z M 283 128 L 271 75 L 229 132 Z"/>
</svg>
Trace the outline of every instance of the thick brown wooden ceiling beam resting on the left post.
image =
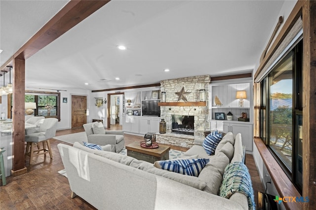
<svg viewBox="0 0 316 210">
<path fill-rule="evenodd" d="M 14 55 L 0 68 L 12 64 L 14 58 L 26 60 L 47 46 L 59 36 L 79 24 L 93 12 L 110 0 L 70 0 L 54 17 L 52 17 L 35 35 L 33 35 Z M 11 65 L 12 66 L 12 65 Z"/>
</svg>

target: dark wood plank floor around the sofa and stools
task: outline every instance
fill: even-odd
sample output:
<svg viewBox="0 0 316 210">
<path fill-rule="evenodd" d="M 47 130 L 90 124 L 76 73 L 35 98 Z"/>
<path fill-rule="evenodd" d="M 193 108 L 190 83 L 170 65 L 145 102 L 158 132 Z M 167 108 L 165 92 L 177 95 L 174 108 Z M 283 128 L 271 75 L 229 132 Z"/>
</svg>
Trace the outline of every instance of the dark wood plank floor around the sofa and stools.
<svg viewBox="0 0 316 210">
<path fill-rule="evenodd" d="M 121 127 L 112 126 L 111 130 L 119 130 Z M 84 131 L 83 128 L 68 129 L 57 131 L 56 136 L 72 134 Z M 125 144 L 134 141 L 143 140 L 142 137 L 124 134 Z M 32 165 L 26 161 L 28 173 L 19 176 L 6 177 L 7 184 L 0 187 L 0 209 L 1 210 L 65 210 L 95 209 L 80 197 L 70 198 L 71 191 L 68 179 L 57 172 L 64 169 L 59 151 L 58 143 L 66 143 L 63 141 L 50 140 L 53 159 L 47 155 L 33 158 Z M 67 144 L 67 143 L 66 143 Z M 172 149 L 186 151 L 186 148 L 178 146 L 170 146 Z M 259 174 L 254 163 L 252 155 L 246 154 L 246 165 L 249 169 L 252 185 L 255 193 L 255 201 L 257 204 L 257 192 L 263 191 L 263 186 L 259 178 Z M 211 209 L 211 208 L 210 208 Z"/>
</svg>

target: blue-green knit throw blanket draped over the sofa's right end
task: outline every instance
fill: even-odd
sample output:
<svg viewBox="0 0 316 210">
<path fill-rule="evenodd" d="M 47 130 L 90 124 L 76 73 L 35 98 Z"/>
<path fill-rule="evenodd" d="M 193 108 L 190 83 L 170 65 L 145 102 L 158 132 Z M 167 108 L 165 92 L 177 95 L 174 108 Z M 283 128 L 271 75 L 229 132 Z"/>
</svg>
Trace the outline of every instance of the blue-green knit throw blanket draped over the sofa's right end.
<svg viewBox="0 0 316 210">
<path fill-rule="evenodd" d="M 220 196 L 229 199 L 235 192 L 247 196 L 248 209 L 255 210 L 254 194 L 248 168 L 242 162 L 226 166 L 220 187 Z"/>
</svg>

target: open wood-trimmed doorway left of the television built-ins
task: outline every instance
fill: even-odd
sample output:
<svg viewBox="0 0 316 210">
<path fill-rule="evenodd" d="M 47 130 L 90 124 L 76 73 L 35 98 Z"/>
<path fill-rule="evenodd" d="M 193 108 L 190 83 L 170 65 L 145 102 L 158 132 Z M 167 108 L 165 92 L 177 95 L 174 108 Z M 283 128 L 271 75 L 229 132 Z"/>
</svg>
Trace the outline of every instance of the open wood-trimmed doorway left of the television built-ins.
<svg viewBox="0 0 316 210">
<path fill-rule="evenodd" d="M 108 115 L 107 128 L 115 126 L 116 130 L 122 129 L 122 113 L 123 113 L 123 96 L 124 93 L 108 94 Z"/>
</svg>

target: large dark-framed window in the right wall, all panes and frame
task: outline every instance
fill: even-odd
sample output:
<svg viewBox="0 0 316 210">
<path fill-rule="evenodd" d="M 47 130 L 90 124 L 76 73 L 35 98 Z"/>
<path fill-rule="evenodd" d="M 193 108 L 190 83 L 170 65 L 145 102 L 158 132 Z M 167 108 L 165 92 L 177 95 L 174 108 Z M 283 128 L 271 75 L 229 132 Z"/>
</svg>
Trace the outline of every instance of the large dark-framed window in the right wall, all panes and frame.
<svg viewBox="0 0 316 210">
<path fill-rule="evenodd" d="M 302 43 L 261 81 L 261 139 L 302 192 Z"/>
</svg>

